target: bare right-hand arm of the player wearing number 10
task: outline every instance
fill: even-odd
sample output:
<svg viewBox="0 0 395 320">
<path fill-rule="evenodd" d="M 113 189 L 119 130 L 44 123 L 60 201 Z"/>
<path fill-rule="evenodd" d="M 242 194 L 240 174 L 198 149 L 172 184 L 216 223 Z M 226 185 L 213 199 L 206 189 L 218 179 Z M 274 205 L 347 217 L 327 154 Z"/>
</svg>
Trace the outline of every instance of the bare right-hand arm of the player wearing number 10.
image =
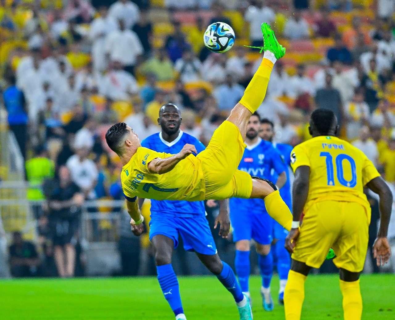
<svg viewBox="0 0 395 320">
<path fill-rule="evenodd" d="M 376 258 L 377 265 L 384 265 L 391 257 L 391 247 L 389 246 L 387 233 L 389 218 L 391 218 L 392 194 L 382 177 L 376 177 L 369 181 L 366 186 L 374 193 L 378 194 L 380 208 L 380 227 L 376 241 L 373 245 L 373 256 Z"/>
</svg>

